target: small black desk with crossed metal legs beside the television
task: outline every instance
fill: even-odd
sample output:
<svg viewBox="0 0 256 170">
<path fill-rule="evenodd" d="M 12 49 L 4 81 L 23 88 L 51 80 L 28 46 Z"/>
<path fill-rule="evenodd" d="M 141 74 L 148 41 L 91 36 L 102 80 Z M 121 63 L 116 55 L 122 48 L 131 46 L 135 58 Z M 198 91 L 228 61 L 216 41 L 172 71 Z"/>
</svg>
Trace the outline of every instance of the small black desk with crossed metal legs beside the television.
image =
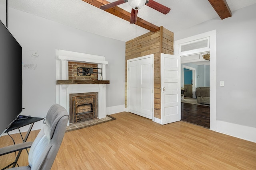
<svg viewBox="0 0 256 170">
<path fill-rule="evenodd" d="M 43 120 L 43 119 L 44 119 L 44 118 L 42 118 L 42 117 L 28 117 L 28 119 L 16 120 L 16 121 L 14 121 L 14 122 L 12 123 L 12 125 L 10 125 L 10 127 L 5 131 L 5 133 L 10 132 L 10 131 L 13 131 L 13 130 L 15 130 L 15 129 L 18 129 L 19 132 L 20 132 L 20 127 L 23 127 L 23 126 L 26 126 L 26 125 L 30 125 L 30 127 L 28 128 L 28 132 L 26 133 L 26 136 L 25 136 L 24 139 L 23 139 L 22 134 L 21 134 L 21 132 L 20 132 L 20 136 L 21 136 L 21 138 L 22 138 L 22 141 L 23 141 L 23 142 L 26 142 L 27 139 L 28 139 L 28 135 L 30 134 L 31 129 L 32 129 L 34 123 L 37 122 L 37 121 Z M 15 166 L 16 166 L 16 162 L 18 161 L 21 152 L 22 152 L 22 150 L 20 150 L 20 151 L 18 152 L 17 157 L 16 157 L 16 160 L 15 160 L 13 163 L 11 163 L 10 165 L 6 166 L 6 167 L 3 168 L 3 169 L 6 169 L 6 168 L 8 168 L 8 167 L 11 166 L 11 165 L 13 165 L 12 167 L 15 167 Z M 28 152 L 28 150 L 27 150 L 27 152 Z M 2 169 L 2 170 L 3 170 L 3 169 Z"/>
</svg>

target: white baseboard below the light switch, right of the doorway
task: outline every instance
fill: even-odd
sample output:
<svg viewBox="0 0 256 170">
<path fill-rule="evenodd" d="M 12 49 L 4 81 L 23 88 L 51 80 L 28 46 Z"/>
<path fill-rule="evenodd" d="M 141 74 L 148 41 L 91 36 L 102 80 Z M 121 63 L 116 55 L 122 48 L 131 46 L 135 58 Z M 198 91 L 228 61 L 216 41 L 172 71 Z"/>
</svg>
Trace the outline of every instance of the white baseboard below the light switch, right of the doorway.
<svg viewBox="0 0 256 170">
<path fill-rule="evenodd" d="M 256 128 L 225 121 L 216 121 L 216 131 L 256 143 Z"/>
</svg>

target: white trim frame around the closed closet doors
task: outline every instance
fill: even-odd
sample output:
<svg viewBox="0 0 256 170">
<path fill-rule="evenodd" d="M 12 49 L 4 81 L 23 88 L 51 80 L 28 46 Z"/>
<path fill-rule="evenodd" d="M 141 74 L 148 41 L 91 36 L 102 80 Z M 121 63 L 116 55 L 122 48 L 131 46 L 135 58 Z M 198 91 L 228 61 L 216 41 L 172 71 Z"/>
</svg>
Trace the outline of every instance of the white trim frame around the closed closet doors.
<svg viewBox="0 0 256 170">
<path fill-rule="evenodd" d="M 129 88 L 129 71 L 128 71 L 128 68 L 129 68 L 129 62 L 131 61 L 136 61 L 136 60 L 142 60 L 142 59 L 146 59 L 146 58 L 151 58 L 152 59 L 152 99 L 151 99 L 151 102 L 152 102 L 152 121 L 155 121 L 154 120 L 154 54 L 150 54 L 150 55 L 145 55 L 145 56 L 142 56 L 142 57 L 137 57 L 137 58 L 134 58 L 134 59 L 129 59 L 127 60 L 127 74 L 126 74 L 126 82 L 127 82 L 127 88 L 126 88 L 126 101 L 127 101 L 127 105 L 129 105 L 129 92 L 128 92 L 128 88 Z M 128 107 L 126 107 L 126 111 L 128 111 Z"/>
</svg>

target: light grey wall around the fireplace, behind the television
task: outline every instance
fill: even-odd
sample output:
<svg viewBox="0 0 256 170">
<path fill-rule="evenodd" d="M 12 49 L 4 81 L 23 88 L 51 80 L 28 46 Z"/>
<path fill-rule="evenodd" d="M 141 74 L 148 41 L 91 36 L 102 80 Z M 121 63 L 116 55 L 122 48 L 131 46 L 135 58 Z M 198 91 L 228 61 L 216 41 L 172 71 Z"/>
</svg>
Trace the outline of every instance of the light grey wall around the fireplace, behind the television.
<svg viewBox="0 0 256 170">
<path fill-rule="evenodd" d="M 0 20 L 5 24 L 5 6 L 0 5 Z M 88 26 L 90 26 L 88 24 Z M 45 117 L 56 101 L 55 49 L 105 56 L 107 107 L 124 106 L 125 102 L 125 42 L 102 37 L 9 9 L 9 31 L 22 46 L 23 64 L 35 69 L 23 70 L 22 114 Z M 39 57 L 31 54 L 37 52 Z M 119 107 L 118 107 L 119 108 Z M 34 125 L 40 129 L 42 122 Z M 26 128 L 25 128 L 26 129 Z"/>
</svg>

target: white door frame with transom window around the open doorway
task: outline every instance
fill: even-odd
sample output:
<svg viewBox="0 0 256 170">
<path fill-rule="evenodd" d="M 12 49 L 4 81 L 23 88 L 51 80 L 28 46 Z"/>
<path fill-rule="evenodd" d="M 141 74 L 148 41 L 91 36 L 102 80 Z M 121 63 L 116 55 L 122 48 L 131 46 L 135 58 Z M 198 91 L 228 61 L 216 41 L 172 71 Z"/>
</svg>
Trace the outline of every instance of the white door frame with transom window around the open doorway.
<svg viewBox="0 0 256 170">
<path fill-rule="evenodd" d="M 210 129 L 216 131 L 216 30 L 174 41 L 174 54 L 181 56 L 181 63 L 200 61 L 200 53 L 210 53 Z"/>
</svg>

